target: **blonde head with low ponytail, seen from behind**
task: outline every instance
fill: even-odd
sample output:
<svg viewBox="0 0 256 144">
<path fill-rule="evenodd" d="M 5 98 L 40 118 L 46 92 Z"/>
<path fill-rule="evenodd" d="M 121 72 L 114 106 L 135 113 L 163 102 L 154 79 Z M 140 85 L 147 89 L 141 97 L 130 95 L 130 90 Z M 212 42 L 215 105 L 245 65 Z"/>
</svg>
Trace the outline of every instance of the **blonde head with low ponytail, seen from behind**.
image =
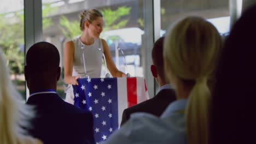
<svg viewBox="0 0 256 144">
<path fill-rule="evenodd" d="M 222 47 L 217 29 L 200 17 L 187 17 L 171 27 L 164 42 L 165 71 L 179 95 L 188 92 L 185 127 L 188 143 L 208 142 L 208 77 Z M 185 97 L 187 98 L 187 97 Z"/>
</svg>

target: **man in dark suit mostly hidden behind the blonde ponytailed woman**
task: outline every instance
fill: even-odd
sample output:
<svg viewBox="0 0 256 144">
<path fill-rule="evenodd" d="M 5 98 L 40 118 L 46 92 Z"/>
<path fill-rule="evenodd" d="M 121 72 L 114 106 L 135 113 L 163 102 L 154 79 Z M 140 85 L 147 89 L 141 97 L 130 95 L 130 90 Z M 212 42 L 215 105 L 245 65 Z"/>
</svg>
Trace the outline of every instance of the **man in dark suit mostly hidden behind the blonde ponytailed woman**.
<svg viewBox="0 0 256 144">
<path fill-rule="evenodd" d="M 151 65 L 151 72 L 160 86 L 158 93 L 152 99 L 125 109 L 121 125 L 128 121 L 130 115 L 135 112 L 147 112 L 160 117 L 166 107 L 176 100 L 174 89 L 165 78 L 164 58 L 162 56 L 163 43 L 164 37 L 159 38 L 152 50 L 153 64 Z"/>
</svg>

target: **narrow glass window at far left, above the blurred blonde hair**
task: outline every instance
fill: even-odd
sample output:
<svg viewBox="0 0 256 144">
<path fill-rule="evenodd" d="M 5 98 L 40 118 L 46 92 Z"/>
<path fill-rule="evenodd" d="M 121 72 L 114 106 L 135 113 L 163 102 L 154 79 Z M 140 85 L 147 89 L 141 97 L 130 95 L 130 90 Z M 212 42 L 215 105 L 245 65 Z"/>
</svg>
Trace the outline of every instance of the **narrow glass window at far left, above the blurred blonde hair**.
<svg viewBox="0 0 256 144">
<path fill-rule="evenodd" d="M 24 100 L 24 1 L 3 0 L 0 5 L 0 49 L 10 69 L 10 79 Z"/>
</svg>

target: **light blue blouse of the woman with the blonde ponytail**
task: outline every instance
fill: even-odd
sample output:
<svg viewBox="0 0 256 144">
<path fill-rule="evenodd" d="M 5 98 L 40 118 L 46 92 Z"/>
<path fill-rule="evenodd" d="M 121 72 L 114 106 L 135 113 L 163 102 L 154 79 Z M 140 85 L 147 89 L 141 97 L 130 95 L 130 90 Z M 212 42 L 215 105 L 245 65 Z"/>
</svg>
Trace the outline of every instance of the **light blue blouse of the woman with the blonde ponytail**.
<svg viewBox="0 0 256 144">
<path fill-rule="evenodd" d="M 149 113 L 134 113 L 123 127 L 104 143 L 179 143 L 185 144 L 184 109 L 187 99 L 173 101 L 161 117 Z"/>
</svg>

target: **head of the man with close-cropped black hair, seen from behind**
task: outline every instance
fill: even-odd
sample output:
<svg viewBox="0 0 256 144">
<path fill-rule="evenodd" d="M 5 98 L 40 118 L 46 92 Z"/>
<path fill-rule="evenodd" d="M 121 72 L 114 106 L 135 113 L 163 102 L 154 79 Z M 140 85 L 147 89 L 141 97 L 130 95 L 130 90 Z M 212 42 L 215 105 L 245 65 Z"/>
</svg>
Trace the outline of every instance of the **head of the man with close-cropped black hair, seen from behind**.
<svg viewBox="0 0 256 144">
<path fill-rule="evenodd" d="M 57 48 L 47 42 L 30 47 L 26 55 L 25 77 L 30 91 L 56 89 L 60 78 L 60 54 Z"/>
</svg>

